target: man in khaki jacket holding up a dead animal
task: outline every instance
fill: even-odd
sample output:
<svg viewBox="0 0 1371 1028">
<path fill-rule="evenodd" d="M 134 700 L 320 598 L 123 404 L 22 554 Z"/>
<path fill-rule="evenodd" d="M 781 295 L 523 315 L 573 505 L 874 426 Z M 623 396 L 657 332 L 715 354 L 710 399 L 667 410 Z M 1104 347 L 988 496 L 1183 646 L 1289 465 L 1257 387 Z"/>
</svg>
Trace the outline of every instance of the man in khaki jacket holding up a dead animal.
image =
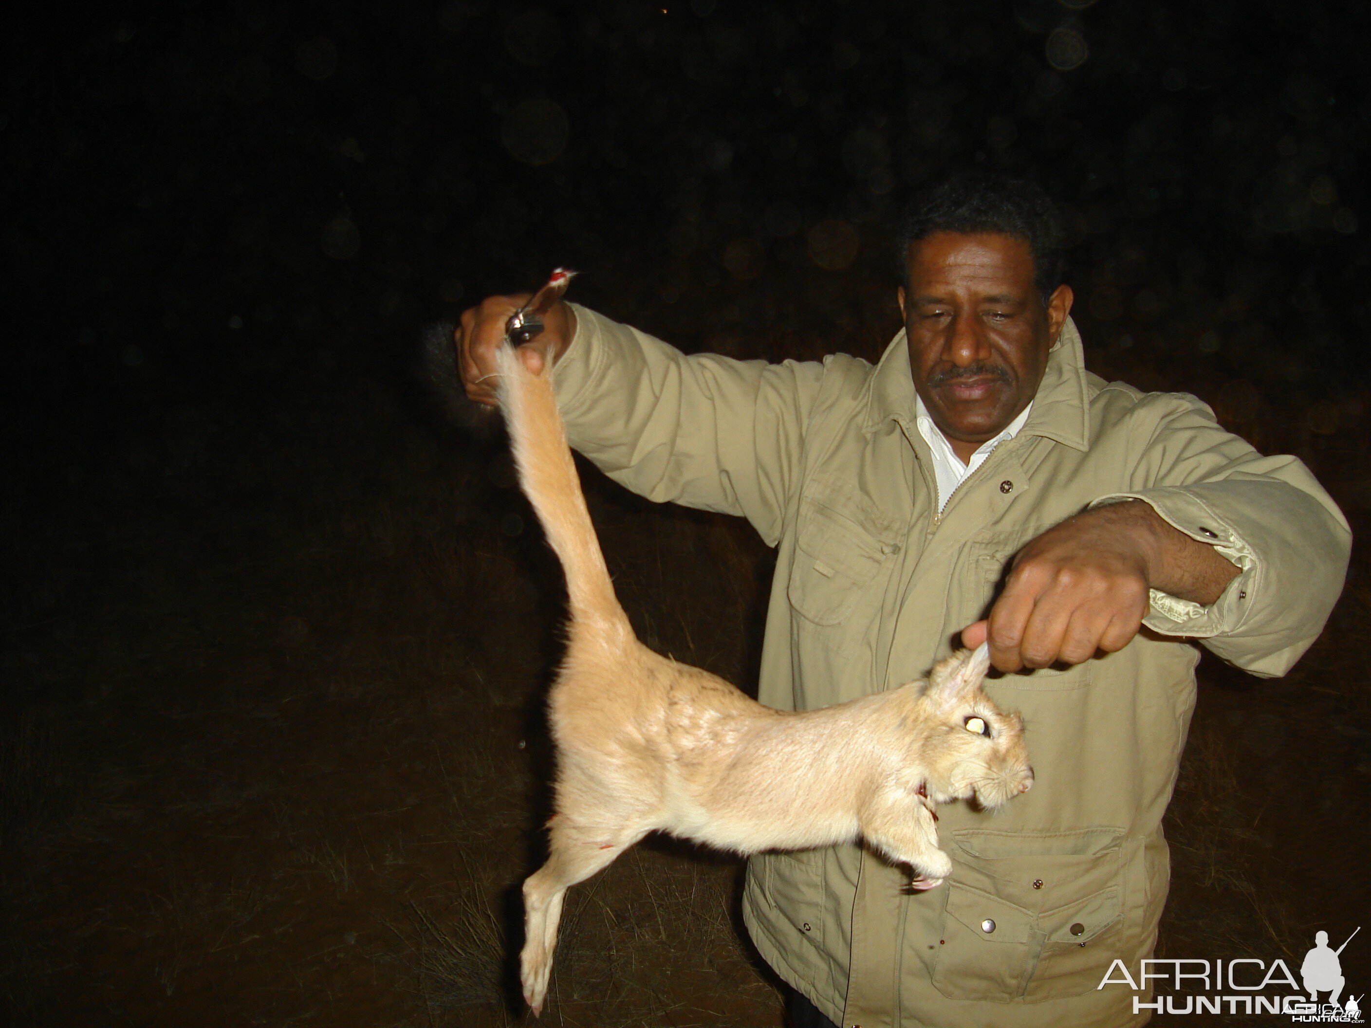
<svg viewBox="0 0 1371 1028">
<path fill-rule="evenodd" d="M 813 709 L 923 677 L 988 636 L 1032 792 L 945 807 L 947 883 L 858 846 L 749 864 L 744 920 L 797 1024 L 1141 1024 L 1115 958 L 1152 954 L 1161 816 L 1200 639 L 1283 674 L 1346 569 L 1342 515 L 1185 395 L 1083 367 L 1060 228 L 1035 186 L 962 177 L 910 208 L 905 330 L 876 366 L 683 356 L 585 308 L 548 318 L 570 441 L 654 500 L 747 517 L 779 546 L 760 699 Z M 458 330 L 468 395 L 521 297 Z M 540 354 L 525 359 L 539 366 Z"/>
</svg>

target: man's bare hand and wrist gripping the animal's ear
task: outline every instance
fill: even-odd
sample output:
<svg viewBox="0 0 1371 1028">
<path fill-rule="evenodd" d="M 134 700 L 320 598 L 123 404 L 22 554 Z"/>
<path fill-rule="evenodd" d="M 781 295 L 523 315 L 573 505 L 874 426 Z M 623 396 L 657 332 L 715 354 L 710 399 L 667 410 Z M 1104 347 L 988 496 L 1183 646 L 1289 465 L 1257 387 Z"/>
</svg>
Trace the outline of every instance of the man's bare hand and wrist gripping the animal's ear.
<svg viewBox="0 0 1371 1028">
<path fill-rule="evenodd" d="M 1002 672 L 1080 663 L 1121 650 L 1148 615 L 1148 589 L 1213 603 L 1238 567 L 1212 546 L 1178 532 L 1146 503 L 1087 510 L 1019 551 L 1005 591 L 961 633 L 990 640 Z"/>
</svg>

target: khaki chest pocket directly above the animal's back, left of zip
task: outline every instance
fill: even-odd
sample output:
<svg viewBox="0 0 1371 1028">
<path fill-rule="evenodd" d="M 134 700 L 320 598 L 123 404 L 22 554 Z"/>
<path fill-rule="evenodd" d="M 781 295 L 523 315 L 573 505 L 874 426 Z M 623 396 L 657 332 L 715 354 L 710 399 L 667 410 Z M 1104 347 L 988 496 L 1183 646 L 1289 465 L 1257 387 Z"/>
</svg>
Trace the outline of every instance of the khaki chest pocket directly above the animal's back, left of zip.
<svg viewBox="0 0 1371 1028">
<path fill-rule="evenodd" d="M 901 548 L 893 532 L 873 530 L 856 517 L 809 496 L 799 503 L 795 562 L 787 596 L 816 625 L 840 625 L 864 596 L 888 556 Z"/>
</svg>

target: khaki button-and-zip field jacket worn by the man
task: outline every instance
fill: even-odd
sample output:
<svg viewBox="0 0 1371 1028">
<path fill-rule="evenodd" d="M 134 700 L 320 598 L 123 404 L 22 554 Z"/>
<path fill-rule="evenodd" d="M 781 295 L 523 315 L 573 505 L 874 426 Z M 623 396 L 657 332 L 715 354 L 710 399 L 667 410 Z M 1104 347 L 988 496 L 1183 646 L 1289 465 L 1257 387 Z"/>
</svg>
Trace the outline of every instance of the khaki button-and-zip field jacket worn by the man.
<svg viewBox="0 0 1371 1028">
<path fill-rule="evenodd" d="M 684 356 L 583 307 L 554 380 L 572 444 L 653 500 L 746 517 L 777 546 L 760 699 L 813 709 L 924 677 L 983 617 L 1015 552 L 1083 507 L 1137 498 L 1241 569 L 1205 609 L 1153 592 L 1146 628 L 1083 665 L 1006 674 L 1034 790 L 941 811 L 947 884 L 860 846 L 749 862 L 743 916 L 786 981 L 843 1025 L 1141 1024 L 1111 962 L 1150 957 L 1161 816 L 1194 709 L 1198 639 L 1283 674 L 1342 588 L 1350 532 L 1308 469 L 1261 456 L 1185 393 L 1084 370 L 1069 321 L 1032 414 L 936 511 L 903 333 L 875 367 Z M 986 931 L 990 922 L 993 931 Z"/>
</svg>

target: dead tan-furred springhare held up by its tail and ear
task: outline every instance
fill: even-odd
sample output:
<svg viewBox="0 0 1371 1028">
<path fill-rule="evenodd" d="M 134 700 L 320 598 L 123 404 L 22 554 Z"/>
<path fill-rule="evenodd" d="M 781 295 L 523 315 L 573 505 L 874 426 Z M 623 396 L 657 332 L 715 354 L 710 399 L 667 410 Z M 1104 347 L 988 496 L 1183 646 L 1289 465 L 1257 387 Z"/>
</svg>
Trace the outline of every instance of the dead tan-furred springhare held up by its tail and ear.
<svg viewBox="0 0 1371 1028">
<path fill-rule="evenodd" d="M 531 374 L 507 345 L 499 369 L 520 480 L 566 570 L 572 614 L 548 698 L 551 855 L 524 883 L 520 969 L 533 1013 L 566 890 L 648 832 L 743 854 L 861 837 L 913 868 L 913 888 L 941 884 L 951 862 L 934 805 L 997 807 L 1032 785 L 1021 720 L 980 688 L 984 647 L 947 658 L 927 683 L 806 713 L 772 710 L 653 652 L 614 596 L 547 373 Z M 968 728 L 972 718 L 990 735 Z"/>
</svg>

